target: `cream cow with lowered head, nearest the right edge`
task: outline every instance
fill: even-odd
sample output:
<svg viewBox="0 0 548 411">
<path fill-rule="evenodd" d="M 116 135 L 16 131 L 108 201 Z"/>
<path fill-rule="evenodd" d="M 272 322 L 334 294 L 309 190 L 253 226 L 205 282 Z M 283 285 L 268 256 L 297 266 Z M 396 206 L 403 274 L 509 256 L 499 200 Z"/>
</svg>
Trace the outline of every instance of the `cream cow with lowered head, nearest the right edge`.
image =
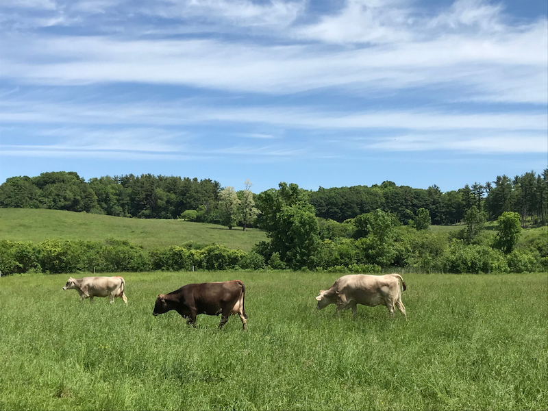
<svg viewBox="0 0 548 411">
<path fill-rule="evenodd" d="M 358 312 L 356 305 L 363 304 L 364 306 L 383 305 L 388 308 L 390 316 L 394 316 L 394 306 L 406 317 L 406 308 L 401 302 L 401 292 L 399 288 L 399 280 L 403 291 L 406 290 L 406 283 L 399 274 L 386 275 L 366 275 L 366 274 L 351 274 L 343 275 L 336 280 L 329 290 L 321 290 L 316 300 L 321 310 L 336 304 L 338 313 L 340 310 L 348 310 L 352 308 L 352 314 L 356 316 Z"/>
</svg>

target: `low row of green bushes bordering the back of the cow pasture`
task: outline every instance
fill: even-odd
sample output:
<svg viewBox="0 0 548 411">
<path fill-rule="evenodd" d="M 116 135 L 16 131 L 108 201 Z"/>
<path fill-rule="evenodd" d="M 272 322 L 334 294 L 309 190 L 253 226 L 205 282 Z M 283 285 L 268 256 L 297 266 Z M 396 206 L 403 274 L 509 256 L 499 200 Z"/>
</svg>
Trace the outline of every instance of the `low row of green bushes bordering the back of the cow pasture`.
<svg viewBox="0 0 548 411">
<path fill-rule="evenodd" d="M 323 240 L 303 269 L 335 273 L 379 273 L 381 266 L 395 271 L 438 273 L 523 273 L 548 271 L 546 241 L 504 254 L 488 245 L 467 245 L 453 238 L 421 234 L 401 237 L 390 247 L 371 244 L 364 238 Z M 386 264 L 388 262 L 388 264 Z M 10 242 L 0 240 L 0 271 L 14 273 L 116 273 L 124 271 L 191 271 L 287 269 L 279 254 L 258 245 L 253 251 L 227 249 L 223 245 L 181 246 L 145 251 L 125 240 L 104 242 L 46 240 Z"/>
</svg>

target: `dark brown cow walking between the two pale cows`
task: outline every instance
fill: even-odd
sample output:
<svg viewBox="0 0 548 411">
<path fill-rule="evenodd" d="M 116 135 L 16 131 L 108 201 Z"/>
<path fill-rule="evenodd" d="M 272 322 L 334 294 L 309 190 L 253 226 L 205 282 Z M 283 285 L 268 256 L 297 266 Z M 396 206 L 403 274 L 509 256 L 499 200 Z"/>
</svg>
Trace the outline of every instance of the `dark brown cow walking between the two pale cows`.
<svg viewBox="0 0 548 411">
<path fill-rule="evenodd" d="M 247 314 L 244 308 L 245 286 L 238 280 L 202 284 L 187 284 L 169 294 L 159 294 L 152 314 L 164 314 L 175 310 L 196 327 L 197 314 L 219 315 L 219 329 L 232 314 L 238 314 L 244 329 L 247 329 Z"/>
</svg>

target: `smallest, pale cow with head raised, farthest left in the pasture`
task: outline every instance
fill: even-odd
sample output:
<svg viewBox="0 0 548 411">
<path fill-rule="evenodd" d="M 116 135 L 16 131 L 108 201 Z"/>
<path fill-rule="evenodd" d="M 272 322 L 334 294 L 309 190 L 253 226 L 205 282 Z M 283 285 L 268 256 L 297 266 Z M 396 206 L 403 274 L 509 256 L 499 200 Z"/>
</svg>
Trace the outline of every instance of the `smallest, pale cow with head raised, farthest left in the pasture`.
<svg viewBox="0 0 548 411">
<path fill-rule="evenodd" d="M 63 290 L 77 290 L 80 295 L 80 302 L 84 299 L 90 299 L 93 302 L 93 297 L 106 297 L 110 303 L 114 303 L 115 297 L 120 297 L 127 306 L 127 298 L 124 294 L 125 281 L 122 277 L 84 277 L 73 278 L 69 277 Z"/>
</svg>

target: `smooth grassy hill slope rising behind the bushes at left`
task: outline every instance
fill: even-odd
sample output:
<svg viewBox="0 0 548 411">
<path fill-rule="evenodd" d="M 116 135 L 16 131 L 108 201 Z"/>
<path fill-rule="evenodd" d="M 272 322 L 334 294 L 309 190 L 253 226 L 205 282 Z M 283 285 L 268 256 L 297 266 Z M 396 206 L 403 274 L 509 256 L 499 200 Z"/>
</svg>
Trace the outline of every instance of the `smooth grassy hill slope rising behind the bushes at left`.
<svg viewBox="0 0 548 411">
<path fill-rule="evenodd" d="M 60 210 L 0 208 L 0 240 L 40 242 L 64 240 L 129 240 L 145 249 L 181 245 L 186 241 L 251 250 L 266 234 L 259 229 L 232 230 L 221 225 L 180 220 L 142 220 Z"/>
</svg>

